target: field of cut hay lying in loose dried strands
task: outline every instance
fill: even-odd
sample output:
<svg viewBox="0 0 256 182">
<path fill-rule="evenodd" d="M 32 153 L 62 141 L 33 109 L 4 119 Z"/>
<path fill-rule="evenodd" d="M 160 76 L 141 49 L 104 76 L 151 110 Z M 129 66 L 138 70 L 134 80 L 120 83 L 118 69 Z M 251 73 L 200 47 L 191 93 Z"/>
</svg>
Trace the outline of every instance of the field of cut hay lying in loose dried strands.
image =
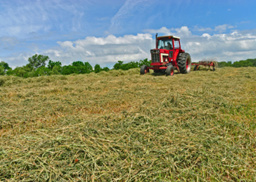
<svg viewBox="0 0 256 182">
<path fill-rule="evenodd" d="M 2 76 L 0 180 L 256 181 L 256 67 Z"/>
</svg>

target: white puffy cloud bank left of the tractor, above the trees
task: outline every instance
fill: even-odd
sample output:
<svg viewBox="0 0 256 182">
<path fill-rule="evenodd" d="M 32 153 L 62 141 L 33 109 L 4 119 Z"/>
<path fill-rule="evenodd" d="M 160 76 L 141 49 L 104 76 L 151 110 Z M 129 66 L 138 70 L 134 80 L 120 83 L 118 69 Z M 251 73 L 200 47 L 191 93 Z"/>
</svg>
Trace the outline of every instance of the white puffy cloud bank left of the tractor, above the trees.
<svg viewBox="0 0 256 182">
<path fill-rule="evenodd" d="M 59 47 L 48 49 L 44 53 L 52 60 L 71 64 L 72 61 L 88 61 L 92 65 L 113 64 L 117 61 L 139 61 L 149 58 L 149 50 L 154 41 L 149 33 L 138 33 L 136 36 L 125 35 L 116 37 L 88 36 L 75 41 L 58 42 Z"/>
</svg>

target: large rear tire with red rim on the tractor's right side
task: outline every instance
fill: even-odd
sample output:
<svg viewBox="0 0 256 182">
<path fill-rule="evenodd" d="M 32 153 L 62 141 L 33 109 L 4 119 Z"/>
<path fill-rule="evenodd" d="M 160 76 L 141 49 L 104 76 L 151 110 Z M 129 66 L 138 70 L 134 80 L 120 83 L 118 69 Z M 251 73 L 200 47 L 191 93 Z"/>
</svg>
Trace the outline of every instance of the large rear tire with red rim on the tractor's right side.
<svg viewBox="0 0 256 182">
<path fill-rule="evenodd" d="M 191 58 L 187 52 L 181 53 L 177 60 L 181 74 L 188 74 L 191 70 Z"/>
</svg>

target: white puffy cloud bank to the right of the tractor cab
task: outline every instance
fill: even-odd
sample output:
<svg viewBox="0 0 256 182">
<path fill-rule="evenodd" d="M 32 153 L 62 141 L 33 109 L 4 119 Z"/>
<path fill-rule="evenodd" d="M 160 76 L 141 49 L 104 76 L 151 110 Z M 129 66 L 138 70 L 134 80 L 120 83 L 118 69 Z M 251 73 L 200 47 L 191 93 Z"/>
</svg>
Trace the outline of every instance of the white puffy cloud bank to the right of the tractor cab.
<svg viewBox="0 0 256 182">
<path fill-rule="evenodd" d="M 231 25 L 216 27 L 220 33 L 202 33 L 195 35 L 188 27 L 158 30 L 145 30 L 149 33 L 163 33 L 181 37 L 181 47 L 189 52 L 193 61 L 205 58 L 215 58 L 217 61 L 238 61 L 247 58 L 256 58 L 256 30 L 234 31 L 221 33 L 221 30 L 233 28 Z"/>
</svg>

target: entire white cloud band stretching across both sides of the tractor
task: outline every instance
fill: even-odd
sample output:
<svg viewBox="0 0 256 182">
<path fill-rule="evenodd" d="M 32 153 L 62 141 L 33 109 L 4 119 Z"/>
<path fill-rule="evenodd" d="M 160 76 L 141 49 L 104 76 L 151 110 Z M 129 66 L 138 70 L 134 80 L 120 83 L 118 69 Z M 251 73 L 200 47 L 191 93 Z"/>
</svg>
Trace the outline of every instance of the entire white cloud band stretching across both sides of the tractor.
<svg viewBox="0 0 256 182">
<path fill-rule="evenodd" d="M 232 33 L 202 33 L 195 35 L 188 27 L 145 30 L 137 35 L 94 37 L 74 41 L 59 41 L 58 46 L 38 54 L 48 55 L 63 65 L 72 61 L 88 61 L 101 67 L 113 66 L 117 61 L 139 61 L 150 59 L 150 49 L 155 48 L 155 33 L 181 37 L 181 48 L 190 53 L 193 61 L 214 58 L 216 61 L 239 61 L 256 57 L 256 30 L 233 31 Z M 35 53 L 34 53 L 35 54 Z M 33 54 L 21 54 L 11 59 L 27 64 Z M 15 59 L 16 58 L 16 59 Z M 17 65 L 17 64 L 16 64 Z"/>
</svg>

